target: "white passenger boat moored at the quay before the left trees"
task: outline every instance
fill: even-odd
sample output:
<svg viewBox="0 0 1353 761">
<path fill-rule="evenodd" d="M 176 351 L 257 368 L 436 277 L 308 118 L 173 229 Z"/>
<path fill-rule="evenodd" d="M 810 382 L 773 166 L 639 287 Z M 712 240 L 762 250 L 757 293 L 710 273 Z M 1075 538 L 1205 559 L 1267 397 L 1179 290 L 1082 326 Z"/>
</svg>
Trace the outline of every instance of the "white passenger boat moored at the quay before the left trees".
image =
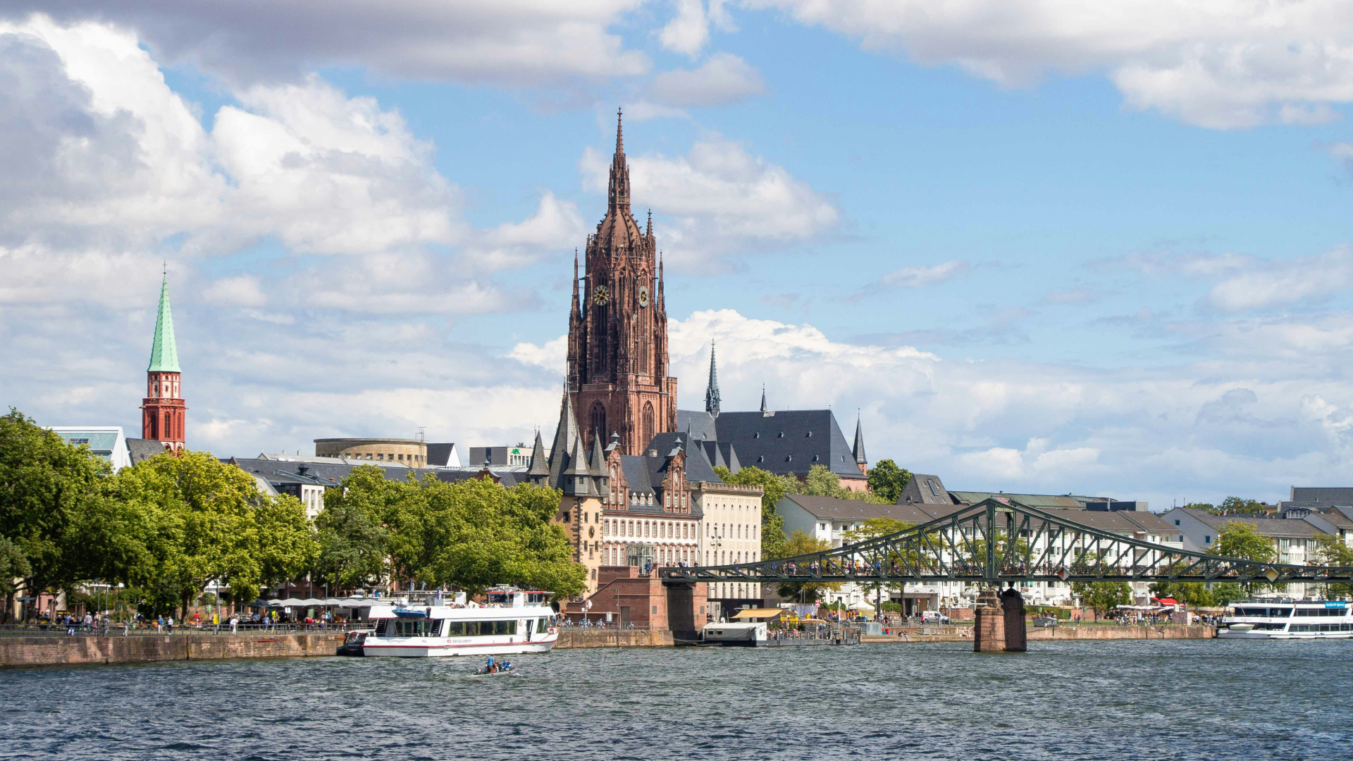
<svg viewBox="0 0 1353 761">
<path fill-rule="evenodd" d="M 429 658 L 548 653 L 559 640 L 549 592 L 495 588 L 488 604 L 373 605 L 361 654 Z"/>
</svg>

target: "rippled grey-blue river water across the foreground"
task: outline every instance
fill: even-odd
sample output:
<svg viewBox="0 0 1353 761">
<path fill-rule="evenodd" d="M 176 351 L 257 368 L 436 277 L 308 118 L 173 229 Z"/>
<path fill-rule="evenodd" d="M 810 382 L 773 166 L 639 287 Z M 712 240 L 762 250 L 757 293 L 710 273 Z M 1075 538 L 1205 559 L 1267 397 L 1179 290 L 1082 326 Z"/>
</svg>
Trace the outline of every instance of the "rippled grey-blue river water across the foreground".
<svg viewBox="0 0 1353 761">
<path fill-rule="evenodd" d="M 0 672 L 5 758 L 1349 760 L 1353 642 L 559 650 Z"/>
</svg>

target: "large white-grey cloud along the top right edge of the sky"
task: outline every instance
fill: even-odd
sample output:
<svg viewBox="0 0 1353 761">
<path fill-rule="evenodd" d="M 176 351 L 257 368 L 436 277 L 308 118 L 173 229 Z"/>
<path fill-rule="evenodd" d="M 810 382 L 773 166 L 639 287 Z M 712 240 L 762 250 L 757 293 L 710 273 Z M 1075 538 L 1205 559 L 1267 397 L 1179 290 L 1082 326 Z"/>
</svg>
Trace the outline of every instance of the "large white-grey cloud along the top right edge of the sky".
<svg viewBox="0 0 1353 761">
<path fill-rule="evenodd" d="M 1312 123 L 1353 102 L 1353 7 L 1342 0 L 746 0 L 954 64 L 1008 87 L 1105 72 L 1135 108 L 1207 127 Z"/>
</svg>

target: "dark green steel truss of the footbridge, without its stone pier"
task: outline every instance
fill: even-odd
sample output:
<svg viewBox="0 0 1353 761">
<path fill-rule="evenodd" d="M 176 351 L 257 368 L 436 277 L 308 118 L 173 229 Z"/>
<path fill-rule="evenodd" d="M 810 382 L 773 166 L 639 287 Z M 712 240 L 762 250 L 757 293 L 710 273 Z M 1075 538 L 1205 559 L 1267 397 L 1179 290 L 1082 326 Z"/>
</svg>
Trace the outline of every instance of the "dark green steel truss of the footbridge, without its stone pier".
<svg viewBox="0 0 1353 761">
<path fill-rule="evenodd" d="M 1013 538 L 1013 542 L 1011 540 Z M 989 498 L 930 523 L 796 558 L 664 567 L 700 581 L 1235 581 L 1348 582 L 1353 567 L 1299 566 L 1177 550 L 1084 525 L 1012 498 Z"/>
</svg>

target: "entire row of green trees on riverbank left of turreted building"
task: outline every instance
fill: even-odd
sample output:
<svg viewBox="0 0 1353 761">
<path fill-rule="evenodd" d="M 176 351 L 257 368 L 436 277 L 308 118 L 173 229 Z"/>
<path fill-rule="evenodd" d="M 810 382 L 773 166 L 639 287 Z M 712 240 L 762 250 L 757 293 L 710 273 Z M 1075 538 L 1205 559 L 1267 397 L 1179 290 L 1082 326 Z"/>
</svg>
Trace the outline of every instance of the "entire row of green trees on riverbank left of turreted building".
<svg viewBox="0 0 1353 761">
<path fill-rule="evenodd" d="M 262 494 L 207 452 L 112 474 L 11 409 L 0 417 L 0 592 L 8 615 L 19 589 L 31 599 L 100 580 L 124 585 L 123 601 L 184 616 L 208 585 L 249 603 L 307 574 L 340 588 L 515 582 L 574 594 L 584 571 L 549 524 L 559 498 L 486 481 L 392 482 L 368 466 L 329 492 L 313 525 L 299 500 Z"/>
</svg>

